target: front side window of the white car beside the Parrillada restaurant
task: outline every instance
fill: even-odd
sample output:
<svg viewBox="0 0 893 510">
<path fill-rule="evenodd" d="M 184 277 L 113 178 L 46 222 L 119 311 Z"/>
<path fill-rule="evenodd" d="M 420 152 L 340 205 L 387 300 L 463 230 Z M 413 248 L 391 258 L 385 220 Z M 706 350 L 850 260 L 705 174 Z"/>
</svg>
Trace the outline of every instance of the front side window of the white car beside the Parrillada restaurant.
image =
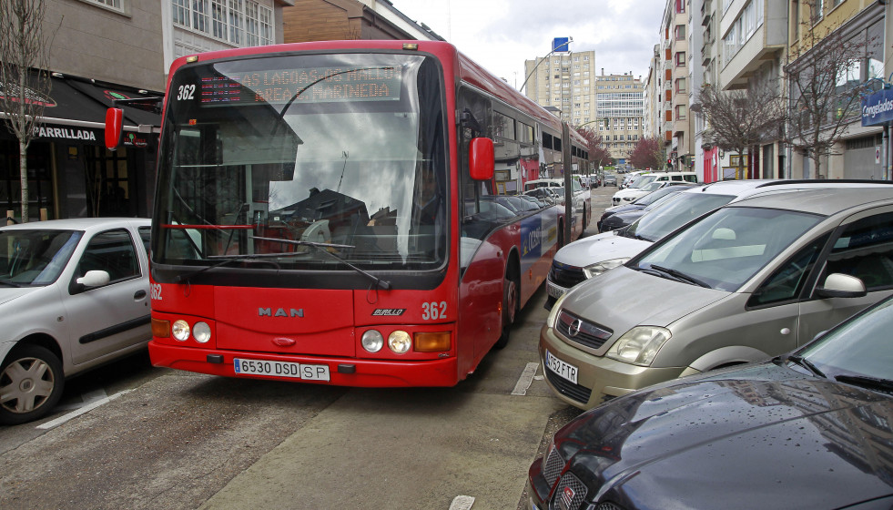
<svg viewBox="0 0 893 510">
<path fill-rule="evenodd" d="M 105 270 L 110 283 L 139 276 L 137 250 L 127 230 L 108 230 L 93 236 L 77 262 L 77 276 Z"/>
</svg>

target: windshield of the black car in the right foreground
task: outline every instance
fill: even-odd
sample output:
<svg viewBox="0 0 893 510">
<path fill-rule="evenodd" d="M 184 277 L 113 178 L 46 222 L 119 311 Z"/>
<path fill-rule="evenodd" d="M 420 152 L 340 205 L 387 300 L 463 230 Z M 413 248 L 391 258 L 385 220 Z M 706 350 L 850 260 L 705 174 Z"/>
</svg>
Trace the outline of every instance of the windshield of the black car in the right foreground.
<svg viewBox="0 0 893 510">
<path fill-rule="evenodd" d="M 797 352 L 828 376 L 893 379 L 893 300 L 884 301 L 828 331 Z"/>
</svg>

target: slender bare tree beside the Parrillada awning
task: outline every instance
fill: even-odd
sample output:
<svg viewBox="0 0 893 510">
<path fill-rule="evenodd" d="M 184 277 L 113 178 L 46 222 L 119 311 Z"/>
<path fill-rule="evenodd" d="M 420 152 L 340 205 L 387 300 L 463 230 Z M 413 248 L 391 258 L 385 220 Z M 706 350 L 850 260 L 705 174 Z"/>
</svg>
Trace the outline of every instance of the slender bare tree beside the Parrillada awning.
<svg viewBox="0 0 893 510">
<path fill-rule="evenodd" d="M 6 127 L 18 138 L 23 223 L 28 221 L 28 145 L 52 87 L 46 70 L 52 40 L 44 36 L 45 13 L 44 0 L 0 2 L 0 109 Z"/>
</svg>

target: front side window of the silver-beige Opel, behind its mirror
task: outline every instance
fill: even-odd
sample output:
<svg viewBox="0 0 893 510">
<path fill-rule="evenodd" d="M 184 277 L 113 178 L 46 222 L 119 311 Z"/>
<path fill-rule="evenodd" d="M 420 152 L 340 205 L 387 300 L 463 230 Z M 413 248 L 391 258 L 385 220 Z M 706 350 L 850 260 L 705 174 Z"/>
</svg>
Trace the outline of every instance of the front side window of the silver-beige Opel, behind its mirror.
<svg viewBox="0 0 893 510">
<path fill-rule="evenodd" d="M 847 225 L 828 254 L 823 278 L 836 272 L 862 280 L 868 291 L 893 287 L 893 212 Z"/>
</svg>

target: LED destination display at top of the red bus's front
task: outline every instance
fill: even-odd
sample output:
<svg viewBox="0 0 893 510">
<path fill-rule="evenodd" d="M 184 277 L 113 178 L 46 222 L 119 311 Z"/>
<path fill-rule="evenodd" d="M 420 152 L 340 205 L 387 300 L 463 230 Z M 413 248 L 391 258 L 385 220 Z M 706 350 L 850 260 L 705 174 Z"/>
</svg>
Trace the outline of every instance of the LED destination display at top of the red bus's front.
<svg viewBox="0 0 893 510">
<path fill-rule="evenodd" d="M 202 106 L 399 101 L 402 66 L 308 67 L 201 78 Z"/>
</svg>

